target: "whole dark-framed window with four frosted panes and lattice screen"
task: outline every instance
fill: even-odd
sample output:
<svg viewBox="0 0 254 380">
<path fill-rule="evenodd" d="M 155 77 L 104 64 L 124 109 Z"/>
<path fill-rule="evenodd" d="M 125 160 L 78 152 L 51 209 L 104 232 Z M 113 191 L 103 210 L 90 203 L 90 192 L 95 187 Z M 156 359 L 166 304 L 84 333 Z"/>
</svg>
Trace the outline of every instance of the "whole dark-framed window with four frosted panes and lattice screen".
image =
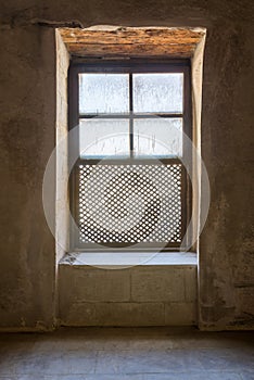
<svg viewBox="0 0 254 380">
<path fill-rule="evenodd" d="M 72 249 L 179 250 L 191 214 L 181 163 L 192 135 L 189 60 L 73 63 L 77 125 Z"/>
</svg>

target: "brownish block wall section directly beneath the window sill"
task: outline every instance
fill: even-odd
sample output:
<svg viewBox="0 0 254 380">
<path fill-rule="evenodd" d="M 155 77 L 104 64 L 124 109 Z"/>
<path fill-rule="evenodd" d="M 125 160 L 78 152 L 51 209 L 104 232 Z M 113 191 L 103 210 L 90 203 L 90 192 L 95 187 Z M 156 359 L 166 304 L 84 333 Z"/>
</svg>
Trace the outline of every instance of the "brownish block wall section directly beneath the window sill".
<svg viewBox="0 0 254 380">
<path fill-rule="evenodd" d="M 109 270 L 61 264 L 63 326 L 196 325 L 196 265 Z"/>
</svg>

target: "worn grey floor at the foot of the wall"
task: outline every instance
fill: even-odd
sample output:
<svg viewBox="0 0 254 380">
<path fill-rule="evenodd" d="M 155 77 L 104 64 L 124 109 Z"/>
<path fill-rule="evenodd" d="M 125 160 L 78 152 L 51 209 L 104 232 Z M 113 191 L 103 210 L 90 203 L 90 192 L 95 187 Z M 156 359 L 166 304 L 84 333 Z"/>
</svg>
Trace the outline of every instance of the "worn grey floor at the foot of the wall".
<svg viewBox="0 0 254 380">
<path fill-rule="evenodd" d="M 1 380 L 253 380 L 254 332 L 61 329 L 0 335 Z"/>
</svg>

